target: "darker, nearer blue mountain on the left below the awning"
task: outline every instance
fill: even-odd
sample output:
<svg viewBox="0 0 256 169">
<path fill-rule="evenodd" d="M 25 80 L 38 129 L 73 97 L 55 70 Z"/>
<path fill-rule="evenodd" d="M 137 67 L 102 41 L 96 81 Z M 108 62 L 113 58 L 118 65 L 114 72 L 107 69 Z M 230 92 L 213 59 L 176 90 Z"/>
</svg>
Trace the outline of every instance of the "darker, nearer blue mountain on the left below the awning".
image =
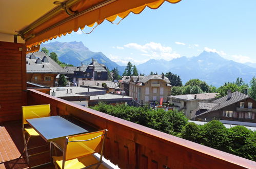
<svg viewBox="0 0 256 169">
<path fill-rule="evenodd" d="M 92 58 L 96 59 L 100 64 L 104 64 L 109 70 L 118 68 L 119 73 L 123 74 L 125 66 L 117 65 L 114 61 L 111 61 L 102 52 L 92 52 L 84 46 L 82 41 L 71 41 L 69 43 L 61 43 L 55 41 L 49 44 L 42 44 L 41 48 L 45 47 L 50 52 L 55 52 L 58 55 L 58 59 L 62 62 L 69 63 L 74 66 L 81 66 L 81 62 L 84 65 L 90 64 Z"/>
</svg>

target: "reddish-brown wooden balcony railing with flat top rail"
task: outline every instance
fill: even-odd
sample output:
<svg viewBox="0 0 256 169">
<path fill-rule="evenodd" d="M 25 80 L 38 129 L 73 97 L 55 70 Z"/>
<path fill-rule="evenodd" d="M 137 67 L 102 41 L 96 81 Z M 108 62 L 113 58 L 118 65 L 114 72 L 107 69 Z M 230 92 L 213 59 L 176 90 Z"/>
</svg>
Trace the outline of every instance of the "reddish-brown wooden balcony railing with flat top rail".
<svg viewBox="0 0 256 169">
<path fill-rule="evenodd" d="M 28 90 L 28 104 L 50 103 L 52 115 L 69 114 L 108 129 L 105 158 L 121 168 L 254 168 L 256 162 L 145 126 Z"/>
</svg>

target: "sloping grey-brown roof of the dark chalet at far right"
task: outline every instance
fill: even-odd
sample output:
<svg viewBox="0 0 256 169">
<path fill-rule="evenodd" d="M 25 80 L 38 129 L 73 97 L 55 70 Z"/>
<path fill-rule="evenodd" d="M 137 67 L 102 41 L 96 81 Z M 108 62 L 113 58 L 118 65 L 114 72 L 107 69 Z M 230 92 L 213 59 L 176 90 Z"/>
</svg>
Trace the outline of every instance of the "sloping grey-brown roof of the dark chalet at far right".
<svg viewBox="0 0 256 169">
<path fill-rule="evenodd" d="M 211 101 L 212 103 L 219 103 L 219 104 L 216 104 L 215 107 L 213 107 L 212 109 L 210 110 L 207 110 L 206 112 L 204 113 L 201 113 L 201 114 L 198 114 L 198 116 L 200 115 L 203 115 L 203 114 L 206 114 L 206 113 L 209 113 L 211 111 L 216 111 L 216 110 L 220 110 L 224 107 L 227 107 L 228 105 L 231 105 L 231 104 L 234 104 L 234 103 L 237 103 L 239 101 L 242 101 L 244 99 L 247 99 L 249 98 L 250 96 L 246 95 L 246 94 L 243 94 L 243 93 L 240 93 L 240 92 L 233 92 L 232 93 L 232 96 L 230 99 L 227 99 L 228 96 L 224 96 L 222 98 L 219 98 L 219 99 L 216 99 L 214 101 Z"/>
</svg>

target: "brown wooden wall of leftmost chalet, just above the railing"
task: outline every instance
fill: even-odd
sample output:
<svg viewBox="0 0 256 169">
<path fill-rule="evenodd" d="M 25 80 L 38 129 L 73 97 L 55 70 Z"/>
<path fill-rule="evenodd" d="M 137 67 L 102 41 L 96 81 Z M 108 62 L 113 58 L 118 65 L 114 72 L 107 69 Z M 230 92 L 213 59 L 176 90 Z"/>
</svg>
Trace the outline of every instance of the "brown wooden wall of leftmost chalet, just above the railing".
<svg viewBox="0 0 256 169">
<path fill-rule="evenodd" d="M 27 73 L 27 81 L 38 83 L 40 85 L 54 87 L 54 79 L 58 74 L 50 73 Z M 47 79 L 49 77 L 49 79 Z"/>
</svg>

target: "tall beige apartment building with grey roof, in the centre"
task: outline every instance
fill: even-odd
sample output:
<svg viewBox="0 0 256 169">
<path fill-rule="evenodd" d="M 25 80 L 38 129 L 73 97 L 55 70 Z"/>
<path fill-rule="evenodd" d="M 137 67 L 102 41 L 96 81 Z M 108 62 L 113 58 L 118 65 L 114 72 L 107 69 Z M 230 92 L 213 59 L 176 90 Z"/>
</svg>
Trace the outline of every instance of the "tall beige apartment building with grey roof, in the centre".
<svg viewBox="0 0 256 169">
<path fill-rule="evenodd" d="M 131 76 L 129 96 L 137 103 L 167 101 L 171 94 L 170 80 L 164 75 Z"/>
</svg>

